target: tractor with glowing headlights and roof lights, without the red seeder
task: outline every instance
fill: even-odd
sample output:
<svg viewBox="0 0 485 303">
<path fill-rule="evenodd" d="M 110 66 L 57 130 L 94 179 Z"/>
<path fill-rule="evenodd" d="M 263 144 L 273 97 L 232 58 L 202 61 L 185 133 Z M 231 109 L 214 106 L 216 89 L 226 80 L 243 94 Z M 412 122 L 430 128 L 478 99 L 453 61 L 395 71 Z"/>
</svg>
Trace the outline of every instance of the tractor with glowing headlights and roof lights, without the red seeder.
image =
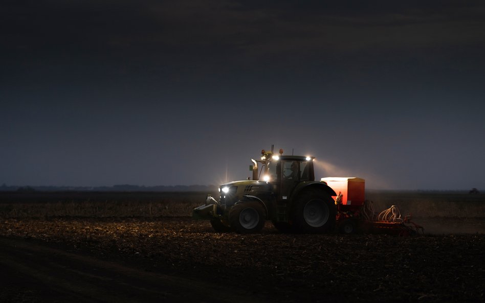
<svg viewBox="0 0 485 303">
<path fill-rule="evenodd" d="M 314 157 L 261 151 L 251 159 L 252 180 L 232 181 L 219 187 L 218 200 L 208 195 L 204 205 L 193 210 L 194 219 L 209 219 L 219 232 L 259 232 L 271 220 L 282 232 L 324 233 L 332 230 L 337 194 L 327 184 L 315 181 Z"/>
</svg>

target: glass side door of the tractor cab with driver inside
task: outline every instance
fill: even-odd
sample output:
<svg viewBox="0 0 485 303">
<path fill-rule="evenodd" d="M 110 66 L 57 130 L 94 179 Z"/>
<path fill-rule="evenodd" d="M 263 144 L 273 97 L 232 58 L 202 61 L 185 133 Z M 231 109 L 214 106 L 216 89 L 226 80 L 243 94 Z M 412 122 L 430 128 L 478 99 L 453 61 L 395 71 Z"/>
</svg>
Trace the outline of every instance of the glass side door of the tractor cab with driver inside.
<svg viewBox="0 0 485 303">
<path fill-rule="evenodd" d="M 310 180 L 307 161 L 282 160 L 281 161 L 280 194 L 278 200 L 290 199 L 293 190 L 302 181 Z"/>
</svg>

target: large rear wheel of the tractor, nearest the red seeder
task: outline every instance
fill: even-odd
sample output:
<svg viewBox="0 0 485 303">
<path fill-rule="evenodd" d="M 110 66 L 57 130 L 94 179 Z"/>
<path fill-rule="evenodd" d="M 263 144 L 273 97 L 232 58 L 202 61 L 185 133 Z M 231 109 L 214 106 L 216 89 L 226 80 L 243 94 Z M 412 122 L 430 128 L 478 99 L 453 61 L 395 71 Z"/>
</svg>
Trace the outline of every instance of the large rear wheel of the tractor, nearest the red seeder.
<svg viewBox="0 0 485 303">
<path fill-rule="evenodd" d="M 293 206 L 293 223 L 298 232 L 324 234 L 335 225 L 337 210 L 332 197 L 323 191 L 303 192 Z"/>
</svg>

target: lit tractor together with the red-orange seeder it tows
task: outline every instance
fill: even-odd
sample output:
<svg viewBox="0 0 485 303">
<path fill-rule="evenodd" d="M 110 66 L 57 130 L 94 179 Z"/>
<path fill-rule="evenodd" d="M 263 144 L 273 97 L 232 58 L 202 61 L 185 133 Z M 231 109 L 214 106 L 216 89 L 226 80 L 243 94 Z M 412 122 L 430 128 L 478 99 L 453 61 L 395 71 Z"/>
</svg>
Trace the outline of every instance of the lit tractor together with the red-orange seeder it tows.
<svg viewBox="0 0 485 303">
<path fill-rule="evenodd" d="M 193 209 L 194 219 L 210 220 L 218 232 L 239 234 L 259 232 L 267 220 L 281 232 L 323 234 L 339 231 L 384 233 L 408 236 L 423 227 L 401 218 L 391 206 L 375 213 L 365 200 L 365 180 L 361 178 L 321 178 L 315 180 L 314 159 L 261 151 L 261 159 L 251 159 L 252 180 L 221 184 L 216 200 L 208 195 L 205 204 Z M 338 192 L 338 194 L 337 194 Z"/>
</svg>

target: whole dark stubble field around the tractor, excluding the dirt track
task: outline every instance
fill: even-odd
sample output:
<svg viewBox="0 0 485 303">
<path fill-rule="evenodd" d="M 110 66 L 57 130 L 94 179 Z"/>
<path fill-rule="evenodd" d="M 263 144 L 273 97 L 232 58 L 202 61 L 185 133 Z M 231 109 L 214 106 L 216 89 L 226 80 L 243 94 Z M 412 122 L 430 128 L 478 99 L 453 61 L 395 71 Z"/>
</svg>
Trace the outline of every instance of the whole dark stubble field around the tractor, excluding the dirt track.
<svg viewBox="0 0 485 303">
<path fill-rule="evenodd" d="M 412 238 L 285 235 L 270 222 L 258 235 L 218 234 L 209 222 L 189 217 L 204 193 L 127 196 L 2 201 L 0 236 L 149 272 L 232 281 L 267 301 L 483 301 L 476 282 L 485 280 L 484 220 L 456 216 L 479 213 L 479 196 L 460 202 L 470 198 L 381 195 L 383 207 L 397 204 L 403 214 L 415 215 L 413 208 L 420 206 L 419 213 L 434 215 L 416 222 L 427 231 L 436 224 L 435 232 Z M 450 214 L 454 208 L 447 207 L 436 216 L 443 205 L 455 205 L 456 211 Z"/>
</svg>

